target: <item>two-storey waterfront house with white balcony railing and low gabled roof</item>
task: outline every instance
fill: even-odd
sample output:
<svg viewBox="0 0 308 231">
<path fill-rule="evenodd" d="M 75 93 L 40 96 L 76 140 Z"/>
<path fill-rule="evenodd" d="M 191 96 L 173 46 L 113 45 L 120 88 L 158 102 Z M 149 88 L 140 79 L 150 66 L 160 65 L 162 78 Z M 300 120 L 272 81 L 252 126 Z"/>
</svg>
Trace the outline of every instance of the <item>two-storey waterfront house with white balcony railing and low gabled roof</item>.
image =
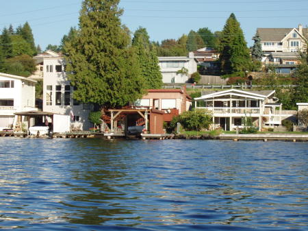
<svg viewBox="0 0 308 231">
<path fill-rule="evenodd" d="M 206 90 L 195 98 L 195 108 L 204 109 L 213 118 L 213 128 L 235 130 L 251 117 L 255 127 L 279 126 L 283 114 L 275 90 Z"/>
</svg>

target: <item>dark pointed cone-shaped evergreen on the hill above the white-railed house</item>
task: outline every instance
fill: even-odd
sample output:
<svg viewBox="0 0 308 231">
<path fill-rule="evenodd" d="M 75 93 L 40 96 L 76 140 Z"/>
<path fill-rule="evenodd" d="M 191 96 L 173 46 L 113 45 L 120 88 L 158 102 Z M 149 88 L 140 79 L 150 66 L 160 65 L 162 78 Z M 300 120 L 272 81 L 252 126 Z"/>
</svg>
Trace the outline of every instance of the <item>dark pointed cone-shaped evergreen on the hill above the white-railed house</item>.
<svg viewBox="0 0 308 231">
<path fill-rule="evenodd" d="M 220 38 L 220 63 L 224 73 L 242 73 L 251 69 L 251 57 L 240 23 L 232 13 Z"/>
</svg>

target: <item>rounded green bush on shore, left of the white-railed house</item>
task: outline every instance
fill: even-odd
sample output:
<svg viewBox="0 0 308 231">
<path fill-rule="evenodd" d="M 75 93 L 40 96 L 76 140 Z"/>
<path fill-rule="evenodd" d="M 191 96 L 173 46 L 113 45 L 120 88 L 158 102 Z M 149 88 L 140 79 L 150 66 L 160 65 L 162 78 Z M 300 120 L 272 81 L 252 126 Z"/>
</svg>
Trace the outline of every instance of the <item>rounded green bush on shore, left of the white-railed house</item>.
<svg viewBox="0 0 308 231">
<path fill-rule="evenodd" d="M 209 114 L 205 114 L 203 110 L 193 110 L 183 112 L 179 117 L 179 122 L 185 130 L 196 130 L 209 129 L 212 120 Z"/>
</svg>

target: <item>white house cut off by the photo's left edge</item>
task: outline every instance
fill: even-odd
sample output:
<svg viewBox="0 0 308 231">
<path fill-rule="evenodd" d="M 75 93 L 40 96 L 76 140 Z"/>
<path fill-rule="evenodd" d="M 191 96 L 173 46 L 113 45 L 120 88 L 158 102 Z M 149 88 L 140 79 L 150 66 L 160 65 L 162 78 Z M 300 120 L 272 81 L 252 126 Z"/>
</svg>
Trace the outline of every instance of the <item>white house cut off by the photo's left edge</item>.
<svg viewBox="0 0 308 231">
<path fill-rule="evenodd" d="M 0 73 L 0 130 L 15 128 L 17 122 L 18 129 L 21 129 L 23 118 L 14 113 L 38 110 L 35 108 L 35 84 L 35 80 L 26 77 Z"/>
</svg>

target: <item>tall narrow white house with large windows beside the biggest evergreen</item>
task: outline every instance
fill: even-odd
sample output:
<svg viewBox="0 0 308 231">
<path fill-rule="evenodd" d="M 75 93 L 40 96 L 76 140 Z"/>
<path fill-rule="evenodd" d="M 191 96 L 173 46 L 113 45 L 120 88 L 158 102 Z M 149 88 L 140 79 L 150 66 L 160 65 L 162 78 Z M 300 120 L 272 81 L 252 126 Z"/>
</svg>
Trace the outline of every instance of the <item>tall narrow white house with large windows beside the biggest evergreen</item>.
<svg viewBox="0 0 308 231">
<path fill-rule="evenodd" d="M 64 59 L 60 54 L 43 56 L 43 111 L 70 115 L 72 130 L 91 127 L 88 114 L 91 106 L 73 99 L 73 86 L 67 79 Z"/>
</svg>

